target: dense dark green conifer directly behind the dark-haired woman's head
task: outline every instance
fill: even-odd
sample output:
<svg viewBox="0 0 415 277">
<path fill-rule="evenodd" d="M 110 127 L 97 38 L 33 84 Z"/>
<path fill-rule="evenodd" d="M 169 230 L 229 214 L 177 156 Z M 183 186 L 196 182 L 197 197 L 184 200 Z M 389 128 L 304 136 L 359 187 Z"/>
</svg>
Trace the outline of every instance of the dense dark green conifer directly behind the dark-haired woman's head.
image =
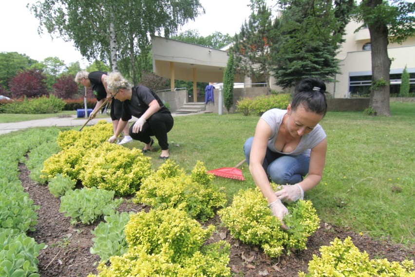
<svg viewBox="0 0 415 277">
<path fill-rule="evenodd" d="M 336 59 L 352 0 L 283 0 L 282 16 L 274 22 L 273 43 L 276 84 L 291 87 L 301 79 L 320 77 L 334 81 Z"/>
</svg>

